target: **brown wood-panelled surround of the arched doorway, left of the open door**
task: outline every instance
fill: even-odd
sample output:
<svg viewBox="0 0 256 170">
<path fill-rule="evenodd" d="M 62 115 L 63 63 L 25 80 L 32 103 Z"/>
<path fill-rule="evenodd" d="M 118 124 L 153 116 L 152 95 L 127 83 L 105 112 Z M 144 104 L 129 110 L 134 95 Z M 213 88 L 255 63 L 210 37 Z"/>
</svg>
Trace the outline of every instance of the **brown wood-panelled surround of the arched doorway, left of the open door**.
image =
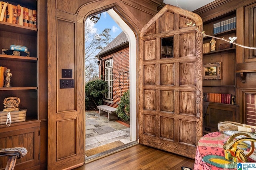
<svg viewBox="0 0 256 170">
<path fill-rule="evenodd" d="M 138 69 L 138 35 L 140 29 L 157 13 L 152 3 L 147 9 L 140 9 L 128 0 L 100 0 L 84 4 L 84 1 L 70 3 L 70 0 L 48 0 L 48 169 L 74 168 L 84 164 L 84 22 L 88 16 L 113 9 L 124 23 L 132 29 L 135 42 L 135 65 Z M 142 5 L 143 2 L 138 2 Z M 139 5 L 139 6 L 140 6 Z M 134 12 L 131 10 L 134 9 Z M 134 16 L 140 16 L 136 18 Z M 121 21 L 120 21 L 121 22 Z M 74 89 L 60 90 L 61 69 L 72 69 Z M 132 99 L 135 115 L 138 108 L 138 73 L 131 75 L 136 87 Z M 68 96 L 66 98 L 65 96 Z M 134 112 L 134 111 L 133 111 Z M 137 115 L 132 118 L 137 140 Z M 67 140 L 68 139 L 68 140 Z M 134 137 L 133 139 L 134 140 Z"/>
</svg>

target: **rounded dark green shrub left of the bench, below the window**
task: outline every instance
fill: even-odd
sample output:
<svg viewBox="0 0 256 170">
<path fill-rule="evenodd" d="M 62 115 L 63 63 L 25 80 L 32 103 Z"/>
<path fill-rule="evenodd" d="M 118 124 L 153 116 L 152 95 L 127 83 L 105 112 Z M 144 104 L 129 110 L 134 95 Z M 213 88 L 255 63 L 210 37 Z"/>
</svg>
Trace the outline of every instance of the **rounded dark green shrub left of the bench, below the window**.
<svg viewBox="0 0 256 170">
<path fill-rule="evenodd" d="M 106 81 L 98 79 L 89 81 L 85 85 L 85 109 L 90 110 L 102 105 L 105 94 L 108 93 Z"/>
</svg>

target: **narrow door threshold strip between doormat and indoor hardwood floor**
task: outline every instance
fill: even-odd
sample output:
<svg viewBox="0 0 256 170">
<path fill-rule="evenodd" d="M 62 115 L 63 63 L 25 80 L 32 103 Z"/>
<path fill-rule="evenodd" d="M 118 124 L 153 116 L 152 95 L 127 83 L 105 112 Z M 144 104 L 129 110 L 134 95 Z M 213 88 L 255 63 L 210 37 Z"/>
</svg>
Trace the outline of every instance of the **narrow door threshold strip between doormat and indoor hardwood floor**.
<svg viewBox="0 0 256 170">
<path fill-rule="evenodd" d="M 98 153 L 98 154 L 95 154 L 95 155 L 92 155 L 92 156 L 88 156 L 88 157 L 85 158 L 85 164 L 90 163 L 90 162 L 92 162 L 94 160 L 98 160 L 100 158 L 104 158 L 106 156 L 109 156 L 111 154 L 114 154 L 116 152 L 124 150 L 126 148 L 130 148 L 132 146 L 135 146 L 136 144 L 139 144 L 138 141 L 130 142 L 128 144 L 124 144 L 122 146 L 118 146 L 116 148 L 112 148 L 110 150 L 106 150 L 104 152 L 101 152 L 101 153 Z"/>
</svg>

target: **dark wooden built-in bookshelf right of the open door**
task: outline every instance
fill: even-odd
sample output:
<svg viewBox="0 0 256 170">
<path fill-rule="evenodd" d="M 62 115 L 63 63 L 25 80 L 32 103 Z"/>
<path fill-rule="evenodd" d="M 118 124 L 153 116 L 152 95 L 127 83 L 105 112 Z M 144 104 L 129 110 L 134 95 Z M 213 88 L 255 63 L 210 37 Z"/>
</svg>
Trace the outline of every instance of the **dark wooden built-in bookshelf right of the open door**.
<svg viewBox="0 0 256 170">
<path fill-rule="evenodd" d="M 231 21 L 232 20 L 232 21 Z M 232 24 L 231 24 L 232 22 Z M 207 35 L 218 38 L 236 37 L 236 11 L 229 12 L 204 22 L 203 30 Z M 212 37 L 203 38 L 203 65 L 221 63 L 218 79 L 203 79 L 203 131 L 218 131 L 218 122 L 236 121 L 236 46 L 216 39 L 215 50 L 211 51 Z"/>
</svg>

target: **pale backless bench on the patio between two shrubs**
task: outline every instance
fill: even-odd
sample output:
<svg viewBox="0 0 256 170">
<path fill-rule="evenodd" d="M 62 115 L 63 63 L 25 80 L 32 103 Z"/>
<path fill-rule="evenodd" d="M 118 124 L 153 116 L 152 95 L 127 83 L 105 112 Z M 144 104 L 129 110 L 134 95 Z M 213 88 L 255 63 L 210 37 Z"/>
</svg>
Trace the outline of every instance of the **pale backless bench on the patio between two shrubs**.
<svg viewBox="0 0 256 170">
<path fill-rule="evenodd" d="M 118 119 L 116 108 L 107 105 L 99 105 L 97 108 L 99 109 L 100 116 L 108 115 L 108 121 L 115 121 Z"/>
</svg>

